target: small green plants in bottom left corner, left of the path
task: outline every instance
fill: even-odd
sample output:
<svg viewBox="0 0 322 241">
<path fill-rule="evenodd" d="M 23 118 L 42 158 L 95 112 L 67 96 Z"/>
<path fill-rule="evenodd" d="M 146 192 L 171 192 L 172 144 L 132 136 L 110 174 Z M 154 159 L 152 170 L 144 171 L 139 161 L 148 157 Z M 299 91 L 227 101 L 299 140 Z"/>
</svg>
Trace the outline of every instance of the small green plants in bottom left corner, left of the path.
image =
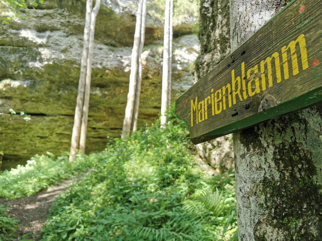
<svg viewBox="0 0 322 241">
<path fill-rule="evenodd" d="M 19 220 L 7 216 L 8 209 L 0 204 L 0 240 L 13 238 L 19 222 Z"/>
</svg>

